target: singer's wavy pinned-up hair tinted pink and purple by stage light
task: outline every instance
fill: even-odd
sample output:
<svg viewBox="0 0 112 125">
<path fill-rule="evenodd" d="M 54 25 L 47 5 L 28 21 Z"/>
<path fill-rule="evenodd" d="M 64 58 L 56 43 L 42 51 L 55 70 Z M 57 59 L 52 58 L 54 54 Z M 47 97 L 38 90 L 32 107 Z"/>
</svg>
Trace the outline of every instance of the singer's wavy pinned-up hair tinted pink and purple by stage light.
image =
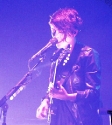
<svg viewBox="0 0 112 125">
<path fill-rule="evenodd" d="M 74 34 L 82 25 L 82 19 L 73 8 L 59 9 L 50 16 L 49 24 L 54 24 L 58 30 Z"/>
</svg>

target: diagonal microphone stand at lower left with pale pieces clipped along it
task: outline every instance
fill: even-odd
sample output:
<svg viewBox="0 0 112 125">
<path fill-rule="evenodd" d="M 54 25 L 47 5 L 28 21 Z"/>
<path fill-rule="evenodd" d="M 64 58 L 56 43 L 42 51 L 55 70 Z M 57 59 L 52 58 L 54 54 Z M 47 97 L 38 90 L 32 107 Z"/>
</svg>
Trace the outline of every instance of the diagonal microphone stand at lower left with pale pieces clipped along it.
<svg viewBox="0 0 112 125">
<path fill-rule="evenodd" d="M 26 86 L 31 80 L 28 80 L 27 78 L 29 76 L 31 76 L 32 72 L 34 71 L 34 69 L 41 63 L 43 62 L 43 60 L 45 59 L 45 55 L 41 55 L 39 58 L 39 61 L 37 62 L 37 64 L 31 68 L 24 76 L 23 78 L 11 89 L 8 91 L 8 93 L 0 100 L 0 107 L 1 107 L 1 111 L 3 112 L 3 123 L 2 125 L 6 125 L 6 114 L 7 114 L 7 109 L 8 109 L 8 104 L 6 103 L 6 101 L 10 98 L 10 97 L 15 97 L 17 94 L 20 93 L 20 91 L 22 91 L 20 88 Z M 1 114 L 2 114 L 1 112 Z M 0 117 L 1 117 L 0 114 Z"/>
</svg>

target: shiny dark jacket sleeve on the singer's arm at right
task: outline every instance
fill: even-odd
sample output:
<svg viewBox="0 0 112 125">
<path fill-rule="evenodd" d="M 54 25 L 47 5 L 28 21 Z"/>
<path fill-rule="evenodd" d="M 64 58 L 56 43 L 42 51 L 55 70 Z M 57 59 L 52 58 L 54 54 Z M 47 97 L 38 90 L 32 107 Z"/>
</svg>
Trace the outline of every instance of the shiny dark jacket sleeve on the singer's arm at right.
<svg viewBox="0 0 112 125">
<path fill-rule="evenodd" d="M 93 101 L 99 98 L 101 85 L 101 64 L 99 54 L 90 49 L 85 54 L 85 90 L 77 91 L 77 100 Z"/>
</svg>

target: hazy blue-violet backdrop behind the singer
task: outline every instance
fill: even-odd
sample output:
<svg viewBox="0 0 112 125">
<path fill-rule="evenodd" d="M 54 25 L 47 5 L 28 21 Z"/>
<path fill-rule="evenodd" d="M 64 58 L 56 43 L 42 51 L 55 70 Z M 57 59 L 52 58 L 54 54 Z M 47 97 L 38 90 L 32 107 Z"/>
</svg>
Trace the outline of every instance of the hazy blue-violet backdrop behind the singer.
<svg viewBox="0 0 112 125">
<path fill-rule="evenodd" d="M 111 0 L 0 0 L 0 99 L 28 72 L 28 60 L 51 38 L 49 16 L 63 7 L 78 10 L 84 21 L 78 39 L 100 53 L 101 97 L 104 108 L 112 109 Z M 37 120 L 35 112 L 47 90 L 50 54 L 24 91 L 7 101 L 7 125 L 47 124 Z M 109 125 L 108 115 L 102 116 L 104 125 Z"/>
</svg>

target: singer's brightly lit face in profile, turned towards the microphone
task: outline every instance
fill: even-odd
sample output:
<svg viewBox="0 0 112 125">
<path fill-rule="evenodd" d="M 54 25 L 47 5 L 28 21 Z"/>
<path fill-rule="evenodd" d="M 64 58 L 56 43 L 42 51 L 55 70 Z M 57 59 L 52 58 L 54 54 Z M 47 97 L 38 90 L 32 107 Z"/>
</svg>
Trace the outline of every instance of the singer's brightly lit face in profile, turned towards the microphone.
<svg viewBox="0 0 112 125">
<path fill-rule="evenodd" d="M 55 25 L 50 24 L 51 28 L 51 36 L 56 38 L 58 42 L 63 42 L 66 39 L 66 35 L 63 33 L 63 31 L 59 30 Z"/>
</svg>

